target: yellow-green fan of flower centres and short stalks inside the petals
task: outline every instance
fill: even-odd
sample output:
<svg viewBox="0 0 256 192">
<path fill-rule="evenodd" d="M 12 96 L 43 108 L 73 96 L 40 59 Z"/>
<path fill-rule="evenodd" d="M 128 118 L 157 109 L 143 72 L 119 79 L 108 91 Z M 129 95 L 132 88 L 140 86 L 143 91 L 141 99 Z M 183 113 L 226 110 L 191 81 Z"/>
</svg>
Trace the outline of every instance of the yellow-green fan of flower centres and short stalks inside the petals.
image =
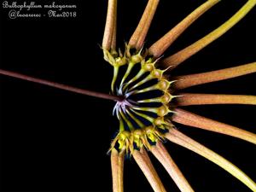
<svg viewBox="0 0 256 192">
<path fill-rule="evenodd" d="M 117 102 L 113 109 L 119 119 L 119 133 L 111 148 L 117 147 L 118 143 L 119 150 L 126 152 L 132 152 L 134 147 L 150 149 L 153 143 L 163 139 L 161 133 L 170 126 L 165 118 L 172 113 L 169 102 L 174 96 L 169 89 L 173 82 L 166 79 L 166 70 L 156 67 L 157 60 L 148 58 L 147 51 L 131 54 L 130 47 L 126 45 L 124 54 L 120 50 L 119 54 L 105 49 L 103 52 L 105 60 L 113 66 L 111 91 L 124 97 L 124 101 Z M 152 91 L 160 94 L 154 95 Z M 151 106 L 152 103 L 157 106 Z"/>
</svg>

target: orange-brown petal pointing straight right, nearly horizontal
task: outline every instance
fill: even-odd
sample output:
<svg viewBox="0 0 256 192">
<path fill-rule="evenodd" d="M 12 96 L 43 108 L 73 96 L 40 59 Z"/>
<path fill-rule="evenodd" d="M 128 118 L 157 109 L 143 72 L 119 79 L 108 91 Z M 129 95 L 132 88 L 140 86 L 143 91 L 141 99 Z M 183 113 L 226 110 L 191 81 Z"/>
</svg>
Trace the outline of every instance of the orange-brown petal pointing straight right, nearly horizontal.
<svg viewBox="0 0 256 192">
<path fill-rule="evenodd" d="M 256 105 L 256 96 L 180 93 L 176 98 L 178 106 L 208 104 Z"/>
</svg>

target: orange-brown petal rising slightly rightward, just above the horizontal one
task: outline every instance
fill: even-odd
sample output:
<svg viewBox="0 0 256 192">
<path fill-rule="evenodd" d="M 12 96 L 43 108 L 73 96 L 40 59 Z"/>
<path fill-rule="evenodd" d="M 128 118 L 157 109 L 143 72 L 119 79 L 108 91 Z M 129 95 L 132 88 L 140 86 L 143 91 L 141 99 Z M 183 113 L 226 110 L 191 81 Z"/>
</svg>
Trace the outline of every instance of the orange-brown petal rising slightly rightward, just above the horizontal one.
<svg viewBox="0 0 256 192">
<path fill-rule="evenodd" d="M 176 89 L 181 90 L 187 87 L 195 86 L 197 84 L 207 84 L 214 81 L 236 78 L 249 73 L 256 73 L 256 62 L 207 73 L 196 73 L 178 76 L 174 78 L 177 80 L 174 86 Z"/>
</svg>

